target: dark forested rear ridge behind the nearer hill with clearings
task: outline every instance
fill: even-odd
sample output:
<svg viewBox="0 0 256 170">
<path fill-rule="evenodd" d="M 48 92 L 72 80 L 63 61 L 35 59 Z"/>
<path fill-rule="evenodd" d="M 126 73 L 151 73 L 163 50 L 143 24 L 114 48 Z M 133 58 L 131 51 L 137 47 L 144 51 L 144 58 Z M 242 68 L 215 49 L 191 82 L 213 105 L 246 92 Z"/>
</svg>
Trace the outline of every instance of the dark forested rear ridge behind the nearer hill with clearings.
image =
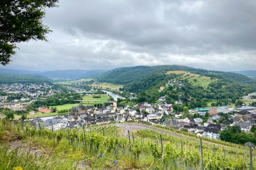
<svg viewBox="0 0 256 170">
<path fill-rule="evenodd" d="M 100 80 L 100 82 L 126 85 L 141 81 L 142 79 L 145 79 L 153 74 L 165 74 L 167 71 L 172 70 L 189 71 L 195 74 L 206 75 L 213 78 L 229 79 L 246 84 L 254 82 L 253 79 L 241 74 L 222 71 L 209 71 L 177 65 L 121 67 L 97 75 L 96 78 Z"/>
</svg>

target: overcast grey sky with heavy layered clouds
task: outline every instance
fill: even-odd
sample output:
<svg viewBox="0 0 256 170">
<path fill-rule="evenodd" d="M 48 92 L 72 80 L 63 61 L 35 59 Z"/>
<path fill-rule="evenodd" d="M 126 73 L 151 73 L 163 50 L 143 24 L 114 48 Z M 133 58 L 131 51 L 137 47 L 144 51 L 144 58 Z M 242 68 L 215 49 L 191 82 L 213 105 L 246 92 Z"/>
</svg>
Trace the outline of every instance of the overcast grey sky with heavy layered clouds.
<svg viewBox="0 0 256 170">
<path fill-rule="evenodd" d="M 5 68 L 256 70 L 255 9 L 255 0 L 60 0 L 43 19 L 48 42 L 18 44 Z"/>
</svg>

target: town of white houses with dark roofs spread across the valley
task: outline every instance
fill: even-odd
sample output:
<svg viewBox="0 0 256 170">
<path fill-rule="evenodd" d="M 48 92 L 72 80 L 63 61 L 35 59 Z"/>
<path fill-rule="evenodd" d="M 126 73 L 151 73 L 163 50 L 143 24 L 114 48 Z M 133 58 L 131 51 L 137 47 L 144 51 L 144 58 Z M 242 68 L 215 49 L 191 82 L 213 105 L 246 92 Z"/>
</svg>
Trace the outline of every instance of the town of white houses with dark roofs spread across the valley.
<svg viewBox="0 0 256 170">
<path fill-rule="evenodd" d="M 183 86 L 180 81 L 168 81 L 169 86 Z M 2 94 L 0 105 L 2 109 L 14 111 L 26 111 L 27 105 L 44 100 L 59 93 L 52 85 L 44 84 L 11 84 L 1 85 Z M 85 95 L 94 95 L 95 92 L 84 91 L 77 87 L 67 87 Z M 164 86 L 159 91 L 164 90 Z M 96 90 L 97 91 L 97 90 Z M 98 90 L 100 91 L 100 90 Z M 15 96 L 13 94 L 19 94 Z M 248 96 L 254 96 L 255 93 Z M 16 97 L 16 98 L 15 98 Z M 120 96 L 121 97 L 121 96 Z M 130 101 L 136 97 L 130 97 Z M 9 101 L 9 102 L 7 102 Z M 94 103 L 94 102 L 92 102 Z M 175 104 L 182 104 L 182 101 L 175 101 Z M 232 105 L 219 105 L 218 107 L 188 109 L 184 107 L 183 112 L 174 112 L 173 104 L 166 103 L 166 96 L 159 97 L 159 103 L 137 103 L 135 105 L 125 105 L 119 107 L 117 101 L 111 104 L 84 105 L 82 102 L 67 109 L 65 114 L 55 114 L 42 118 L 27 118 L 23 121 L 30 126 L 37 128 L 44 127 L 57 131 L 67 126 L 71 129 L 81 128 L 83 125 L 101 125 L 110 123 L 139 122 L 142 124 L 166 126 L 176 130 L 193 133 L 200 137 L 207 137 L 220 140 L 220 131 L 227 126 L 238 125 L 242 131 L 250 132 L 256 125 L 256 107 L 242 104 L 241 107 Z M 37 111 L 43 114 L 51 113 L 53 109 L 49 107 L 39 107 Z M 56 111 L 55 111 L 56 112 Z M 60 113 L 60 112 L 59 112 Z M 1 115 L 0 115 L 1 116 Z M 254 126 L 254 127 L 253 127 Z"/>
</svg>

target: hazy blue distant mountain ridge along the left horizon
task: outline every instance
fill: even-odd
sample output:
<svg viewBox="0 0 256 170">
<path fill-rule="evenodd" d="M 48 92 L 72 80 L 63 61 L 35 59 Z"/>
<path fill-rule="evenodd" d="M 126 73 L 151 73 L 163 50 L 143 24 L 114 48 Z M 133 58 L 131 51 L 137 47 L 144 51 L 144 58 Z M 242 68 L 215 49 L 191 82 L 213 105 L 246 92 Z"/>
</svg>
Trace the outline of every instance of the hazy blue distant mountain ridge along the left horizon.
<svg viewBox="0 0 256 170">
<path fill-rule="evenodd" d="M 81 79 L 89 78 L 100 73 L 104 73 L 107 70 L 51 70 L 51 71 L 30 71 L 30 70 L 15 70 L 15 69 L 3 69 L 0 68 L 0 73 L 13 73 L 13 74 L 33 74 L 43 75 L 48 78 L 60 78 L 60 79 Z"/>
</svg>

